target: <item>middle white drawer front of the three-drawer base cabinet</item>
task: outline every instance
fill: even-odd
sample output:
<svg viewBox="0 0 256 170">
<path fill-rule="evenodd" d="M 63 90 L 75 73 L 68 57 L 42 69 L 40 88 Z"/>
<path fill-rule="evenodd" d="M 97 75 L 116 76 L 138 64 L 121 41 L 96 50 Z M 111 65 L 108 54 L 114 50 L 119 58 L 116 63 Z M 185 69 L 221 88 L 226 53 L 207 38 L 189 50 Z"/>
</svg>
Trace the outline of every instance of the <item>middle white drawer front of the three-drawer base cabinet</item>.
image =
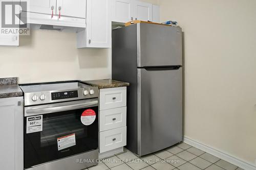
<svg viewBox="0 0 256 170">
<path fill-rule="evenodd" d="M 100 132 L 126 126 L 126 107 L 101 110 L 99 123 Z"/>
</svg>

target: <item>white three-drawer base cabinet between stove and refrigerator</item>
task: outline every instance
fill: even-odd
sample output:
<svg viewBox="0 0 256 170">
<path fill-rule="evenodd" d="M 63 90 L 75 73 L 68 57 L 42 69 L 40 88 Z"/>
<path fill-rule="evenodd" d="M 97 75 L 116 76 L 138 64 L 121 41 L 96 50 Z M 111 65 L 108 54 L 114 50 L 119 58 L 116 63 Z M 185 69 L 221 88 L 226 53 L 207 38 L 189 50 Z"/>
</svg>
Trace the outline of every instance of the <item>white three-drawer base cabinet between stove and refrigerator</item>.
<svg viewBox="0 0 256 170">
<path fill-rule="evenodd" d="M 126 145 L 126 87 L 99 90 L 99 157 L 123 151 Z"/>
</svg>

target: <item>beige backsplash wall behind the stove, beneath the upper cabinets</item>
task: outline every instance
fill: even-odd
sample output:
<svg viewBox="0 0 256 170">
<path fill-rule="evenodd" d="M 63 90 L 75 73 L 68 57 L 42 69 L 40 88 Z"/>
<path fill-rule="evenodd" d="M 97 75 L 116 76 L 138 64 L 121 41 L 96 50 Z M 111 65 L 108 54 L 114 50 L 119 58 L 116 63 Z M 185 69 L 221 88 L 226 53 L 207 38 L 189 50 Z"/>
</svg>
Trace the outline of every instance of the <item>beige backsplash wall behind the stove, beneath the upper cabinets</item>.
<svg viewBox="0 0 256 170">
<path fill-rule="evenodd" d="M 34 30 L 19 47 L 0 47 L 0 77 L 20 83 L 111 78 L 111 49 L 77 49 L 76 34 Z"/>
</svg>

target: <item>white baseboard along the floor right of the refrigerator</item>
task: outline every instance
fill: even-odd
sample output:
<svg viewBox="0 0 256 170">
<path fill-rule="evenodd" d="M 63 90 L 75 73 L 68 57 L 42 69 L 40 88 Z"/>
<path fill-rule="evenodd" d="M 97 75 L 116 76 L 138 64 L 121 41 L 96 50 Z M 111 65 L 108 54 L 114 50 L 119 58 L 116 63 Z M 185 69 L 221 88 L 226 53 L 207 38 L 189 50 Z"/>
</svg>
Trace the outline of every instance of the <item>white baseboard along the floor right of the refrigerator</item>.
<svg viewBox="0 0 256 170">
<path fill-rule="evenodd" d="M 211 155 L 214 155 L 218 158 L 221 158 L 227 162 L 230 162 L 236 166 L 239 166 L 245 170 L 256 170 L 256 166 L 251 164 L 251 163 L 248 163 L 246 161 L 243 161 L 243 160 L 240 160 L 234 156 L 231 156 L 225 152 L 222 152 L 222 151 L 219 151 L 215 148 L 212 148 L 212 147 L 208 147 L 207 145 L 203 144 L 203 143 L 200 143 L 196 140 L 193 140 L 193 139 L 189 139 L 187 137 L 184 136 L 184 142 L 195 147 L 195 148 L 198 148 L 204 152 L 207 152 Z"/>
</svg>

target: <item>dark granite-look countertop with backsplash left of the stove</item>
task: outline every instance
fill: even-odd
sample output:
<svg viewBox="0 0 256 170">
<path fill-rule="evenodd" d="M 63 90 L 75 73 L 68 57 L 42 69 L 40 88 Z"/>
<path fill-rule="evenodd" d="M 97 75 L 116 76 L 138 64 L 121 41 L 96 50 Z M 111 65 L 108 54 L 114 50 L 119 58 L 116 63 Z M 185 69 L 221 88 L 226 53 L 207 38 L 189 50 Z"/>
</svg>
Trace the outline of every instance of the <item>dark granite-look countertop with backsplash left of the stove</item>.
<svg viewBox="0 0 256 170">
<path fill-rule="evenodd" d="M 18 85 L 18 78 L 1 78 L 0 98 L 14 98 L 18 96 L 23 96 L 23 91 Z"/>
</svg>

